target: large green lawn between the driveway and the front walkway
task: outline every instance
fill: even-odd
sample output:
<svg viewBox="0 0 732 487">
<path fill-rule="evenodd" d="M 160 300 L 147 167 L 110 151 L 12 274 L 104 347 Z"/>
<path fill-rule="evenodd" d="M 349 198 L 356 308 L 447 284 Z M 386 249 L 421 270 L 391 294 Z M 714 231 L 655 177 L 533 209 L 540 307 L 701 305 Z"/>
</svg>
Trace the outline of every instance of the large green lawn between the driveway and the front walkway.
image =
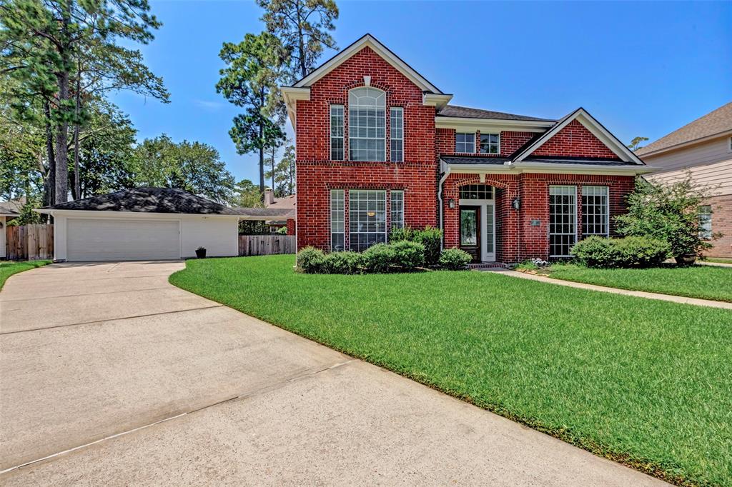
<svg viewBox="0 0 732 487">
<path fill-rule="evenodd" d="M 732 483 L 732 312 L 498 273 L 295 273 L 188 260 L 171 282 L 675 483 Z"/>
</svg>

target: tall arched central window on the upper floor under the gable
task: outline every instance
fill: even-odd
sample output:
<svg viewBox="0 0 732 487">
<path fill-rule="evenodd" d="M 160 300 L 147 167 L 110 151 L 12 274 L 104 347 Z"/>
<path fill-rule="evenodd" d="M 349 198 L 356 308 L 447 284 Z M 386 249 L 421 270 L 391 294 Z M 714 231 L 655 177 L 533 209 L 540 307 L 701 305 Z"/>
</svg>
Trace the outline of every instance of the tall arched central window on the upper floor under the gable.
<svg viewBox="0 0 732 487">
<path fill-rule="evenodd" d="M 354 88 L 348 93 L 348 159 L 386 160 L 386 93 Z"/>
</svg>

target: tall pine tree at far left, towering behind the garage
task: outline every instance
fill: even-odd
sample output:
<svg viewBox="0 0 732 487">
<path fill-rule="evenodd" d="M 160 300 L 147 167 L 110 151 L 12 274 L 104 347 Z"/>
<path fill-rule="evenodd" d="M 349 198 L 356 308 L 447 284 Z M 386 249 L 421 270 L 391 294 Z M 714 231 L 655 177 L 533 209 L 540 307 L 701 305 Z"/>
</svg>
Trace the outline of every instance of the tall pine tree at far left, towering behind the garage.
<svg viewBox="0 0 732 487">
<path fill-rule="evenodd" d="M 4 39 L 0 69 L 26 86 L 32 86 L 34 78 L 55 80 L 48 115 L 55 138 L 54 200 L 62 203 L 68 195 L 69 126 L 82 123 L 83 59 L 89 53 L 124 50 L 116 44 L 120 39 L 146 44 L 160 23 L 149 14 L 147 0 L 5 0 L 0 4 L 0 23 Z M 137 53 L 125 51 L 132 58 Z M 116 72 L 114 78 L 127 78 L 124 62 L 106 67 Z"/>
</svg>

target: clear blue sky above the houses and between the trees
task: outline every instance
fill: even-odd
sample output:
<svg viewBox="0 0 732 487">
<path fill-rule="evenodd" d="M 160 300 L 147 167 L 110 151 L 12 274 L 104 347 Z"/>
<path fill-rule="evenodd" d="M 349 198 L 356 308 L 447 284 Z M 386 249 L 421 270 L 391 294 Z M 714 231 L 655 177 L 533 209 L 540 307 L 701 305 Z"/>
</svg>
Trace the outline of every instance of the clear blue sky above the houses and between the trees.
<svg viewBox="0 0 732 487">
<path fill-rule="evenodd" d="M 559 118 L 582 106 L 615 133 L 655 140 L 732 101 L 732 2 L 339 1 L 335 39 L 369 32 L 452 103 Z M 138 138 L 165 132 L 216 147 L 237 179 L 255 154 L 228 136 L 237 109 L 216 93 L 225 41 L 263 29 L 253 1 L 152 1 L 143 46 L 171 103 L 121 93 Z M 326 53 L 324 59 L 332 56 Z M 291 131 L 291 127 L 288 127 Z"/>
</svg>

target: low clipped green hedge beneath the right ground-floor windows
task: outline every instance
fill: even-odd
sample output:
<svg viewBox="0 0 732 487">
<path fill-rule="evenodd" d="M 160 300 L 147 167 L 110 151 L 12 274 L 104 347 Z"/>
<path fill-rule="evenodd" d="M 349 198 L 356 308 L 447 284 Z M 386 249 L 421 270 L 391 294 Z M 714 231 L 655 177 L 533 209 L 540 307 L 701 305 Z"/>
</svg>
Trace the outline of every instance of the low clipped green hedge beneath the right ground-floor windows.
<svg viewBox="0 0 732 487">
<path fill-rule="evenodd" d="M 663 263 L 670 252 L 665 241 L 647 237 L 592 236 L 572 247 L 580 264 L 597 268 L 651 267 Z"/>
</svg>

